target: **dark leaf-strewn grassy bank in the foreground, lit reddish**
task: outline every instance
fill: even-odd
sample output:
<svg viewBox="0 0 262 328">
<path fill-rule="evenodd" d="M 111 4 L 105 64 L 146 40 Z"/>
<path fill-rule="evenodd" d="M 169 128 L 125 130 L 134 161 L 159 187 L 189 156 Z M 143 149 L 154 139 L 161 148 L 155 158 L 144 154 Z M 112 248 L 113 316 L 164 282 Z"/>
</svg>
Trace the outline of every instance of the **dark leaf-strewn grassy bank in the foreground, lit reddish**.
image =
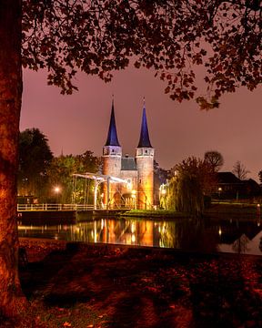
<svg viewBox="0 0 262 328">
<path fill-rule="evenodd" d="M 21 239 L 30 307 L 1 328 L 261 327 L 260 257 Z"/>
</svg>

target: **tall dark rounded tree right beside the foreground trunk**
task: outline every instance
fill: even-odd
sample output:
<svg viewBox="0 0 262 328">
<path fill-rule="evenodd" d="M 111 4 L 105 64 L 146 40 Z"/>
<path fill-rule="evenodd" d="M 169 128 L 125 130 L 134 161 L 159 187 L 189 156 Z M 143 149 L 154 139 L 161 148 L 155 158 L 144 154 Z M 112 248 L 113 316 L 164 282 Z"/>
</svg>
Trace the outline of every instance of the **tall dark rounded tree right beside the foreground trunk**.
<svg viewBox="0 0 262 328">
<path fill-rule="evenodd" d="M 52 159 L 48 139 L 38 128 L 27 128 L 20 133 L 18 194 L 37 198 L 45 195 Z"/>
</svg>

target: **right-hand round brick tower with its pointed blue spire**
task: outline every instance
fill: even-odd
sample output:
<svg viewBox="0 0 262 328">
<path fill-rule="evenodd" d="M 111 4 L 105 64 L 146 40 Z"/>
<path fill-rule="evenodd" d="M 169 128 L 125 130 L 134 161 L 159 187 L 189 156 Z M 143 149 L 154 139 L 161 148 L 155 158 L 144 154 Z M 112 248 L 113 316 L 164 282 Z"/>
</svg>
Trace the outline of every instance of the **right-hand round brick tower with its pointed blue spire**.
<svg viewBox="0 0 262 328">
<path fill-rule="evenodd" d="M 136 148 L 137 208 L 150 209 L 154 202 L 154 152 L 151 146 L 144 101 L 141 132 Z"/>
</svg>

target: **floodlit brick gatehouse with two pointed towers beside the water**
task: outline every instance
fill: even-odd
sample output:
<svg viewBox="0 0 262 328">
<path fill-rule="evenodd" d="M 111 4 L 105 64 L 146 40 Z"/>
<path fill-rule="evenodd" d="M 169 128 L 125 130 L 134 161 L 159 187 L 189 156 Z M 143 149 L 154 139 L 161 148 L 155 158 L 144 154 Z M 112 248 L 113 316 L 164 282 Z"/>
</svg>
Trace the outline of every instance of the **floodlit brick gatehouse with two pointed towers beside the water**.
<svg viewBox="0 0 262 328">
<path fill-rule="evenodd" d="M 153 206 L 154 193 L 154 149 L 151 146 L 144 104 L 140 139 L 136 148 L 136 157 L 122 156 L 122 147 L 116 133 L 114 103 L 103 148 L 103 174 L 126 179 L 124 184 L 105 183 L 104 203 L 114 207 L 150 209 Z M 109 192 L 107 192 L 107 188 Z M 108 196 L 107 196 L 108 195 Z M 106 198 L 109 198 L 107 200 Z"/>
</svg>

